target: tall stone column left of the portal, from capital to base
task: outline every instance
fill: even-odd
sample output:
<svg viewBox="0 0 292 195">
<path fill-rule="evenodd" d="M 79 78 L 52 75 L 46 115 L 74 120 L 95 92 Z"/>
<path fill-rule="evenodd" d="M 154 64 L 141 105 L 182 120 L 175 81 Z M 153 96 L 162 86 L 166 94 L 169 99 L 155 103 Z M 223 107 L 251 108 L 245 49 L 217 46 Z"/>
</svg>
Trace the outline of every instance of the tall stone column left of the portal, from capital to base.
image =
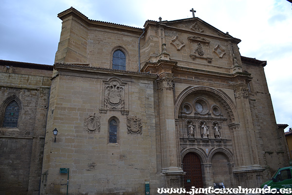
<svg viewBox="0 0 292 195">
<path fill-rule="evenodd" d="M 162 173 L 167 176 L 167 187 L 183 187 L 183 169 L 179 154 L 179 136 L 174 118 L 172 74 L 158 78 Z"/>
</svg>

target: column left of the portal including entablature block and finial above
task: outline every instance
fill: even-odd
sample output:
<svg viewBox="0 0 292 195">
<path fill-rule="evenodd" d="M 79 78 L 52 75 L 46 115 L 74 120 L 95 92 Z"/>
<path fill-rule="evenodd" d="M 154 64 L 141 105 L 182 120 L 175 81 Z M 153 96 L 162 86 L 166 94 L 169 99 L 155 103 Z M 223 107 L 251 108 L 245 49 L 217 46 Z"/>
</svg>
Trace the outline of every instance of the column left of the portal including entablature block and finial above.
<svg viewBox="0 0 292 195">
<path fill-rule="evenodd" d="M 169 60 L 169 54 L 165 51 L 156 62 L 148 63 L 151 72 L 158 75 L 159 120 L 162 149 L 162 173 L 166 175 L 167 187 L 183 187 L 183 169 L 179 153 L 179 135 L 176 131 L 174 116 L 174 82 L 173 67 L 177 64 Z"/>
</svg>

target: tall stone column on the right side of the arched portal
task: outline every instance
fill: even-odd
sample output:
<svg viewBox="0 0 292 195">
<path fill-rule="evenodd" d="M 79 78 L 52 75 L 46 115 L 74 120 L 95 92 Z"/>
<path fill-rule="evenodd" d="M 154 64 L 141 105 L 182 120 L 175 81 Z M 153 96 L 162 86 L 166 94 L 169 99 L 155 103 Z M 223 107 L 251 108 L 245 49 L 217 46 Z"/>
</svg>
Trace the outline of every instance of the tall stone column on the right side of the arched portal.
<svg viewBox="0 0 292 195">
<path fill-rule="evenodd" d="M 238 77 L 235 85 L 235 100 L 239 124 L 230 124 L 233 132 L 236 164 L 233 174 L 237 184 L 245 188 L 253 188 L 255 185 L 239 179 L 240 176 L 249 177 L 261 175 L 264 169 L 259 165 L 256 135 L 253 126 L 253 118 L 249 103 L 249 90 L 245 80 Z"/>
</svg>

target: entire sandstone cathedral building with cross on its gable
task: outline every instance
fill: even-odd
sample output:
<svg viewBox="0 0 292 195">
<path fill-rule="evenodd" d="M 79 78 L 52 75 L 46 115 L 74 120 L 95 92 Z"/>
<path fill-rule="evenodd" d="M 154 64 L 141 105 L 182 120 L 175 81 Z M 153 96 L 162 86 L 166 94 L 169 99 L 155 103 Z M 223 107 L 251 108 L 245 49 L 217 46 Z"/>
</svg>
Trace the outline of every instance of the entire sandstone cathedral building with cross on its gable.
<svg viewBox="0 0 292 195">
<path fill-rule="evenodd" d="M 288 165 L 264 66 L 200 18 L 69 8 L 54 66 L 0 60 L 0 194 L 256 188 Z"/>
</svg>

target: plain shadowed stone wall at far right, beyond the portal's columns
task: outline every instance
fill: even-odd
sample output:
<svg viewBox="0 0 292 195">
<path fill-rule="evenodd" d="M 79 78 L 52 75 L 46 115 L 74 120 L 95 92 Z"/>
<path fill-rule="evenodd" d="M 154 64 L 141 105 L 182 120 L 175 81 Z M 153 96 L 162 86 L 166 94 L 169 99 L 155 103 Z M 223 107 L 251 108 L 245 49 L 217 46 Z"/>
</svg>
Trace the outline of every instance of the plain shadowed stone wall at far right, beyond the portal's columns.
<svg viewBox="0 0 292 195">
<path fill-rule="evenodd" d="M 265 64 L 264 64 L 265 65 Z M 279 167 L 288 166 L 288 155 L 283 132 L 278 130 L 274 109 L 264 73 L 264 65 L 245 61 L 243 69 L 251 73 L 250 106 L 253 126 L 256 131 L 256 144 L 259 163 L 263 168 L 264 180 L 268 180 Z"/>
</svg>

